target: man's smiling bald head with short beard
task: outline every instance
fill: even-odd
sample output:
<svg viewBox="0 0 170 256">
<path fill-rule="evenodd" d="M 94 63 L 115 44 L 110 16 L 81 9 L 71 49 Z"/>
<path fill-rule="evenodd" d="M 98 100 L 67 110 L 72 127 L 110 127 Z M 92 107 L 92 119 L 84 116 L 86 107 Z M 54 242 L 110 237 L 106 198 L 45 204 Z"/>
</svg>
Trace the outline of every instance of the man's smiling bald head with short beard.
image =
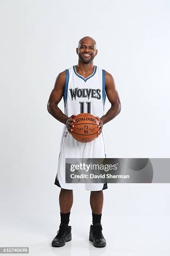
<svg viewBox="0 0 170 256">
<path fill-rule="evenodd" d="M 90 63 L 97 55 L 95 40 L 89 36 L 83 37 L 76 49 L 80 61 L 84 64 Z"/>
</svg>

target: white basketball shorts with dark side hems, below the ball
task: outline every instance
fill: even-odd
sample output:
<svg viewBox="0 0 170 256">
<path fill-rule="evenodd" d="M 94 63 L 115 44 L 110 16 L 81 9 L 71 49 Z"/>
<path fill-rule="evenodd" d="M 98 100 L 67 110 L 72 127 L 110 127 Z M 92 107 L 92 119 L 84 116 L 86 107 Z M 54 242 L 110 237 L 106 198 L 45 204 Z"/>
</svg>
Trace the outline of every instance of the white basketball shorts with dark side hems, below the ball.
<svg viewBox="0 0 170 256">
<path fill-rule="evenodd" d="M 75 138 L 67 131 L 64 126 L 61 142 L 60 154 L 58 160 L 57 175 L 55 185 L 63 189 L 74 189 L 77 183 L 65 182 L 65 159 L 66 158 L 104 158 L 106 157 L 105 141 L 103 131 L 98 138 L 93 141 L 82 143 L 76 141 Z M 85 183 L 85 189 L 88 191 L 99 191 L 107 189 L 107 181 L 105 183 Z"/>
</svg>

